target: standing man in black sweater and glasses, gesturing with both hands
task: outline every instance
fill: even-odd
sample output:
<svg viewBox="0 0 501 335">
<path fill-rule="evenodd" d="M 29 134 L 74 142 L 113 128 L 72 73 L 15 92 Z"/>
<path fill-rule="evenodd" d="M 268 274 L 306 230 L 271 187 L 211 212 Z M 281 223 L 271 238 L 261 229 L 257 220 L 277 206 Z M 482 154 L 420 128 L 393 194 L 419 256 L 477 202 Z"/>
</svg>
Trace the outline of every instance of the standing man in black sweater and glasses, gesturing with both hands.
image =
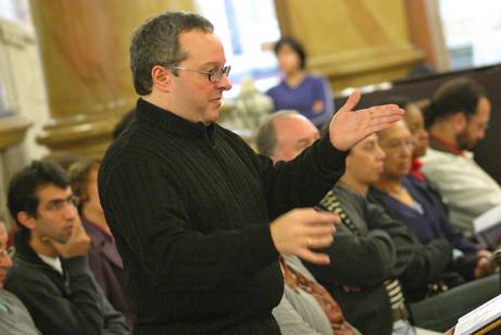
<svg viewBox="0 0 501 335">
<path fill-rule="evenodd" d="M 273 165 L 215 124 L 230 67 L 212 24 L 170 12 L 130 46 L 140 96 L 108 150 L 99 193 L 136 305 L 135 334 L 279 334 L 278 253 L 328 263 L 336 215 L 311 208 L 340 177 L 347 150 L 401 117 L 397 107 L 352 113 L 287 164 Z M 305 208 L 297 209 L 295 208 Z"/>
</svg>

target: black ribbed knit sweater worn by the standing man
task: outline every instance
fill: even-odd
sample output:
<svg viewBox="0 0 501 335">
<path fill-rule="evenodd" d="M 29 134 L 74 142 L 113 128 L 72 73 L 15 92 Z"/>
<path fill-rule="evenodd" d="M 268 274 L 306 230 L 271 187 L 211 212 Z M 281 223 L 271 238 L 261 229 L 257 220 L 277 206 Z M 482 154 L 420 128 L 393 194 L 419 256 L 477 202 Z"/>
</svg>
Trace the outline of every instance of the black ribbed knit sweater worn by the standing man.
<svg viewBox="0 0 501 335">
<path fill-rule="evenodd" d="M 316 204 L 346 152 L 328 138 L 273 165 L 234 133 L 139 99 L 99 173 L 129 277 L 135 334 L 277 334 L 283 294 L 270 222 Z"/>
</svg>

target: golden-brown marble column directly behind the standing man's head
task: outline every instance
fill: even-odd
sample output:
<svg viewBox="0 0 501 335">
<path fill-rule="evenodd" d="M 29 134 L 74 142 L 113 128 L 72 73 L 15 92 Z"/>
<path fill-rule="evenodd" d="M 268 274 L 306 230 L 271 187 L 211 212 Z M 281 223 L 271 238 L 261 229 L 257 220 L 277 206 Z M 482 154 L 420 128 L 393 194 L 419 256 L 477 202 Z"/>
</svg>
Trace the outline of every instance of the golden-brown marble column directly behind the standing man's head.
<svg viewBox="0 0 501 335">
<path fill-rule="evenodd" d="M 51 150 L 100 153 L 137 100 L 129 71 L 133 32 L 190 0 L 32 0 L 51 121 L 38 142 Z"/>
</svg>

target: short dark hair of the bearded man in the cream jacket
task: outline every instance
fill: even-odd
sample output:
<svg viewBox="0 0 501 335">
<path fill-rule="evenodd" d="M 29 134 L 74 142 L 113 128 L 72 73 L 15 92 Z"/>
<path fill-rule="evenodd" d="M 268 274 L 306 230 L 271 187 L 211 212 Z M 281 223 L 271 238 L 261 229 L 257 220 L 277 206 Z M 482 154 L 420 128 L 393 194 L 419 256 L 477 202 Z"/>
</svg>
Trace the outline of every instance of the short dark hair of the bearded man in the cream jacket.
<svg viewBox="0 0 501 335">
<path fill-rule="evenodd" d="M 486 92 L 477 82 L 460 77 L 441 85 L 425 112 L 427 124 L 444 116 L 464 113 L 466 117 L 475 114 L 478 100 L 486 97 Z"/>
</svg>

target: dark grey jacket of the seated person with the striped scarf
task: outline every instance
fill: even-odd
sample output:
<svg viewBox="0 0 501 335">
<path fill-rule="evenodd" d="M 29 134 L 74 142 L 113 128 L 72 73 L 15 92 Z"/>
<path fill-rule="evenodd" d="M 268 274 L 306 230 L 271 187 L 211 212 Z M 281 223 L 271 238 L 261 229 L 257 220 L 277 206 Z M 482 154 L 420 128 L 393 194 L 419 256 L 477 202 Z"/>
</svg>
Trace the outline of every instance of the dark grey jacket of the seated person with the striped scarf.
<svg viewBox="0 0 501 335">
<path fill-rule="evenodd" d="M 330 264 L 304 263 L 362 334 L 391 334 L 392 311 L 384 282 L 405 271 L 415 256 L 416 241 L 380 207 L 340 184 L 333 191 L 361 236 L 342 224 L 334 244 L 322 250 L 329 255 Z"/>
</svg>

